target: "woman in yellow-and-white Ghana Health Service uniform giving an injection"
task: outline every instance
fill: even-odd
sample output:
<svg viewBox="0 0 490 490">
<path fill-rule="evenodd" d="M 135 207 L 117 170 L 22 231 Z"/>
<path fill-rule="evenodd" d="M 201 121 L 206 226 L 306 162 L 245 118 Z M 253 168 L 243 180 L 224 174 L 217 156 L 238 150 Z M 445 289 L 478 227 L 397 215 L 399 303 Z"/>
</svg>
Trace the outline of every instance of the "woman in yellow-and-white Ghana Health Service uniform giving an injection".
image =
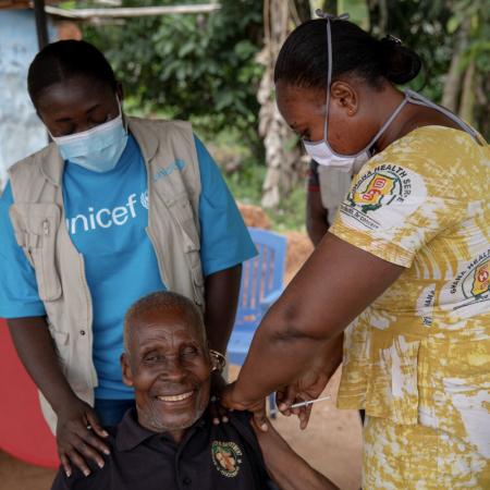
<svg viewBox="0 0 490 490">
<path fill-rule="evenodd" d="M 290 413 L 343 359 L 338 404 L 366 409 L 364 489 L 490 488 L 488 145 L 394 86 L 419 71 L 412 50 L 321 16 L 281 49 L 278 106 L 319 164 L 368 161 L 224 403 L 260 420 L 280 390 Z"/>
</svg>

